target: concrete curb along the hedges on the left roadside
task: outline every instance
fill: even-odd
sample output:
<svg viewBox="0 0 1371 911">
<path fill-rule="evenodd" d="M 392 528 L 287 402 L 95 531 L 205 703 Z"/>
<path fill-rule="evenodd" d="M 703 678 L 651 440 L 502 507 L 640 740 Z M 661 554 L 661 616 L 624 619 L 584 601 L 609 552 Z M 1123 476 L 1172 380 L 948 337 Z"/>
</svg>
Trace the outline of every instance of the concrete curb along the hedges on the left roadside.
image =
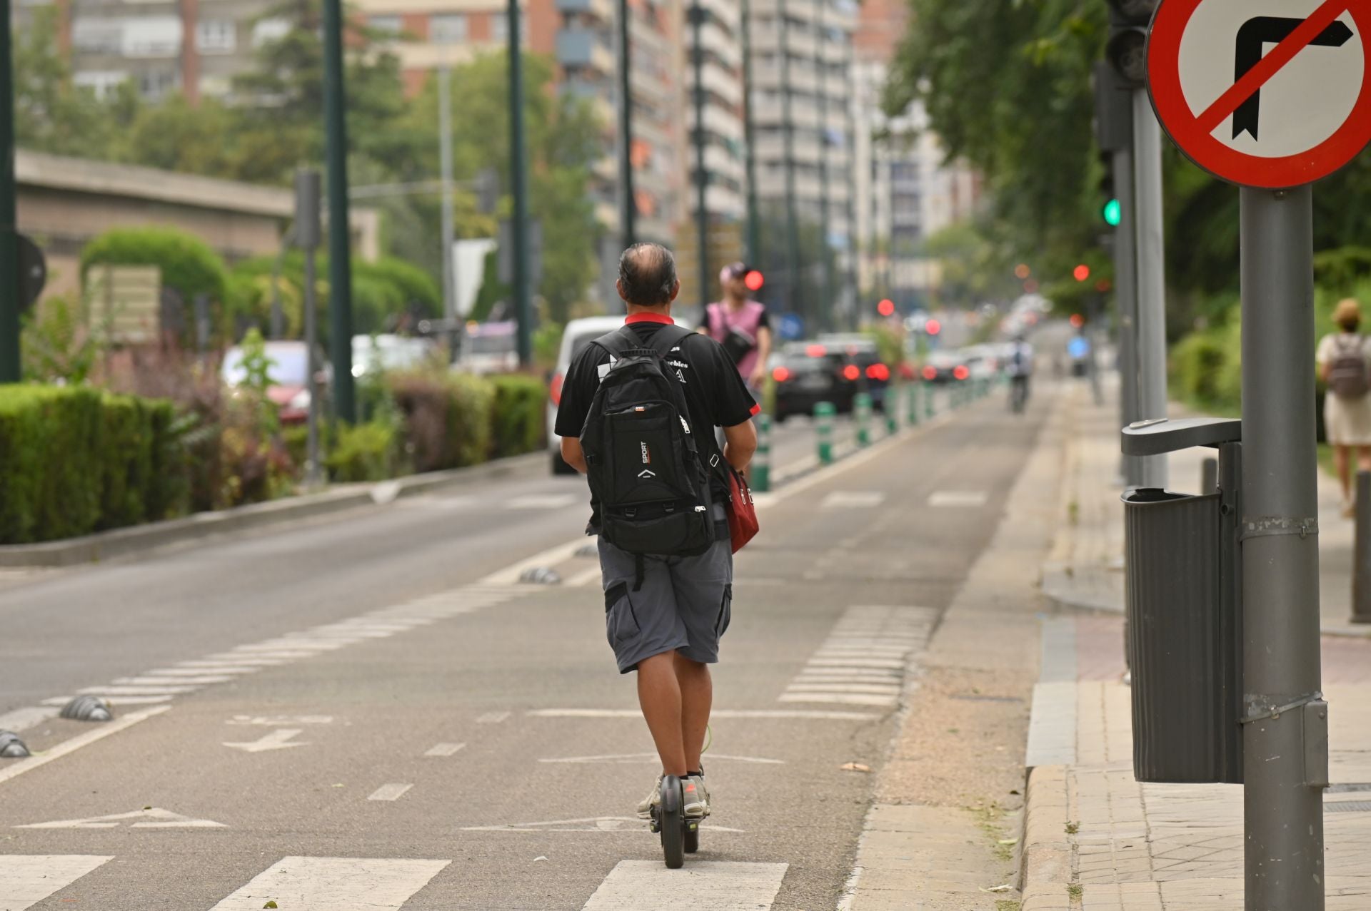
<svg viewBox="0 0 1371 911">
<path fill-rule="evenodd" d="M 324 493 L 308 493 L 270 503 L 197 512 L 181 519 L 149 522 L 126 529 L 97 532 L 63 541 L 0 545 L 0 567 L 63 567 L 144 553 L 174 544 L 200 541 L 217 534 L 266 529 L 287 522 L 313 519 L 345 510 L 385 506 L 399 497 L 435 493 L 494 478 L 546 469 L 547 452 L 485 462 L 468 469 L 430 471 L 380 484 L 350 484 Z"/>
</svg>

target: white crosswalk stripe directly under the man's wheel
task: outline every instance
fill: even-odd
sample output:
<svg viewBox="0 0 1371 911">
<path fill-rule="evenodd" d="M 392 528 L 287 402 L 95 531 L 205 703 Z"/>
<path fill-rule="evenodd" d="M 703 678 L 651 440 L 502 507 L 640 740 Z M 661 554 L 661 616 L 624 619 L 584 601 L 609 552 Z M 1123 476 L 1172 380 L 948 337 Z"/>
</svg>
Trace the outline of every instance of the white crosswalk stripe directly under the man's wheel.
<svg viewBox="0 0 1371 911">
<path fill-rule="evenodd" d="M 694 860 L 680 870 L 668 870 L 661 860 L 620 860 L 581 911 L 769 908 L 780 892 L 788 866 Z"/>
</svg>

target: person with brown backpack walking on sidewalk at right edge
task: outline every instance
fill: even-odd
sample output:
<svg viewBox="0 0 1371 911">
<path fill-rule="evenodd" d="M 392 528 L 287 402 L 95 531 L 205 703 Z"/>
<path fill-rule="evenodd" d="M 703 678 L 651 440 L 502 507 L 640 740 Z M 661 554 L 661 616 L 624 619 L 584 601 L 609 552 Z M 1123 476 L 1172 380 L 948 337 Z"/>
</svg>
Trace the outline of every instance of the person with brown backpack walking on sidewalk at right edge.
<svg viewBox="0 0 1371 911">
<path fill-rule="evenodd" d="M 1371 338 L 1363 336 L 1361 307 L 1348 297 L 1338 301 L 1333 322 L 1341 332 L 1319 342 L 1315 362 L 1327 384 L 1323 427 L 1333 445 L 1333 464 L 1342 484 L 1342 515 L 1353 514 L 1352 448 L 1361 471 L 1371 471 Z"/>
</svg>

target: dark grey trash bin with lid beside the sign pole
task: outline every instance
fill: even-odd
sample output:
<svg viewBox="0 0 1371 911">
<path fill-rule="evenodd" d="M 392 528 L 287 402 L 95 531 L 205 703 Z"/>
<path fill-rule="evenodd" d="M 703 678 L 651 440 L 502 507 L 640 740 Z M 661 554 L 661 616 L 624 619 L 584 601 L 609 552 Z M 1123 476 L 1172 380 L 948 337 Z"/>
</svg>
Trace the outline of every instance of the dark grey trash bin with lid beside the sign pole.
<svg viewBox="0 0 1371 911">
<path fill-rule="evenodd" d="M 1216 493 L 1123 496 L 1138 781 L 1242 781 L 1238 433 L 1201 419 L 1124 430 L 1128 455 L 1213 445 L 1220 463 Z"/>
</svg>

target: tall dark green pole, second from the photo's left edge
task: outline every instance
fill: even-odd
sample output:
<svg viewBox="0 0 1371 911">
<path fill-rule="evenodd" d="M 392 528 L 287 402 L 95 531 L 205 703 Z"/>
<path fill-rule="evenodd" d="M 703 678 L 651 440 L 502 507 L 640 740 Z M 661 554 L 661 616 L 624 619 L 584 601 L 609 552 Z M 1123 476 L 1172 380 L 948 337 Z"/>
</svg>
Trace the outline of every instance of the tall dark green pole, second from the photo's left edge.
<svg viewBox="0 0 1371 911">
<path fill-rule="evenodd" d="M 3 1 L 3 0 L 0 0 Z M 324 0 L 324 136 L 329 171 L 329 344 L 333 408 L 356 422 L 352 395 L 352 237 L 347 199 L 347 95 L 343 86 L 343 0 Z"/>
</svg>

